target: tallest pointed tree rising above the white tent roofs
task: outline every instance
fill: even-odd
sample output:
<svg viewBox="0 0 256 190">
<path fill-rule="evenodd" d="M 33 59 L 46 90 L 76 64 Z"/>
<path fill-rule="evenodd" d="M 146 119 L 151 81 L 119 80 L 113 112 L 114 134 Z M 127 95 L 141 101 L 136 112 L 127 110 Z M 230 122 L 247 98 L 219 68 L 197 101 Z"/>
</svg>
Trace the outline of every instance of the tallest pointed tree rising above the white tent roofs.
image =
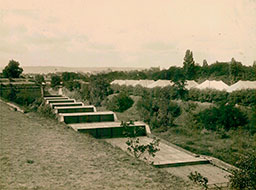
<svg viewBox="0 0 256 190">
<path fill-rule="evenodd" d="M 187 79 L 191 80 L 195 78 L 195 61 L 193 58 L 193 52 L 189 49 L 186 51 L 184 57 L 183 70 Z"/>
</svg>

